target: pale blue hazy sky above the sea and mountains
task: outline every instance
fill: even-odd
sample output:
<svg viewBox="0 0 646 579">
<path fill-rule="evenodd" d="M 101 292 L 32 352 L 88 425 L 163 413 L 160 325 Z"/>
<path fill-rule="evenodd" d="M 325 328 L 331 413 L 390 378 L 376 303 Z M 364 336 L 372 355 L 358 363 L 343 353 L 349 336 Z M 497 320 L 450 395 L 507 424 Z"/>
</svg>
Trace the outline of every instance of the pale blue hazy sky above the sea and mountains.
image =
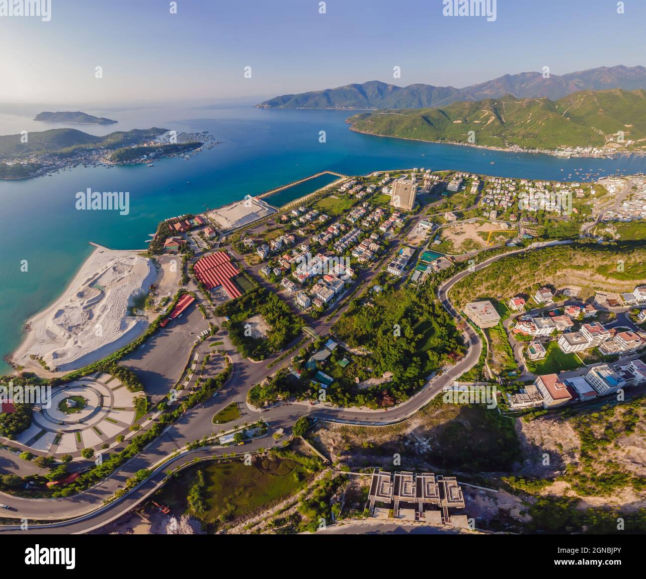
<svg viewBox="0 0 646 579">
<path fill-rule="evenodd" d="M 176 14 L 167 0 L 49 1 L 50 21 L 0 15 L 0 103 L 461 88 L 543 66 L 645 64 L 646 0 L 625 0 L 624 14 L 614 0 L 497 0 L 494 21 L 444 16 L 443 0 L 327 0 L 324 13 L 319 0 L 177 0 Z"/>
</svg>

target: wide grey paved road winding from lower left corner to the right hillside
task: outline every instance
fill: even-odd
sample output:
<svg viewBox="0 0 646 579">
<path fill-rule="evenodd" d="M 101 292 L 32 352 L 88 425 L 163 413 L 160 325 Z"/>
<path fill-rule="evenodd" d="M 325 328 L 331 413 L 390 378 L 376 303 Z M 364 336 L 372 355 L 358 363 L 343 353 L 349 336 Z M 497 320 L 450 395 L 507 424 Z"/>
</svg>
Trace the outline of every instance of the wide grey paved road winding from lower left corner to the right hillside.
<svg viewBox="0 0 646 579">
<path fill-rule="evenodd" d="M 487 267 L 497 259 L 526 251 L 525 249 L 516 250 L 507 254 L 500 254 L 494 256 L 482 263 L 475 265 L 472 269 L 477 271 Z M 470 270 L 463 270 L 453 276 L 453 278 L 444 282 L 438 290 L 438 297 L 443 303 L 444 307 L 450 314 L 461 319 L 458 312 L 455 311 L 449 301 L 448 293 L 450 289 L 465 276 L 470 274 Z M 370 279 L 370 276 L 368 276 Z M 366 280 L 367 281 L 367 280 Z M 210 306 L 204 303 L 207 309 Z M 348 307 L 344 304 L 334 318 L 337 318 L 340 313 Z M 221 320 L 216 320 L 220 321 Z M 315 329 L 324 334 L 334 320 L 328 322 L 318 320 Z M 221 323 L 220 323 L 221 325 Z M 391 422 L 401 422 L 405 418 L 412 416 L 418 409 L 426 405 L 434 396 L 436 396 L 445 385 L 457 380 L 461 374 L 468 371 L 477 363 L 482 343 L 478 334 L 468 324 L 464 324 L 464 332 L 466 340 L 469 345 L 468 351 L 465 356 L 454 366 L 446 369 L 441 375 L 436 376 L 430 380 L 424 388 L 418 392 L 410 400 L 402 403 L 401 405 L 390 409 L 388 412 L 384 411 L 359 411 L 353 409 L 338 409 L 332 407 L 315 408 L 315 416 L 321 420 L 329 420 L 335 422 L 357 422 L 362 424 L 387 424 Z M 138 502 L 144 500 L 146 494 L 152 491 L 163 480 L 163 471 L 167 471 L 169 467 L 180 465 L 182 461 L 192 460 L 195 456 L 213 456 L 213 454 L 221 454 L 222 449 L 205 450 L 199 449 L 197 451 L 189 452 L 179 458 L 175 458 L 172 462 L 166 463 L 165 467 L 148 480 L 141 484 L 127 498 L 119 502 L 113 502 L 98 510 L 97 507 L 103 503 L 104 500 L 114 496 L 118 489 L 122 488 L 126 480 L 139 471 L 140 469 L 152 468 L 161 459 L 169 456 L 172 452 L 182 449 L 187 442 L 198 440 L 205 435 L 213 435 L 217 427 L 211 423 L 214 414 L 232 401 L 237 401 L 238 405 L 243 412 L 243 416 L 238 420 L 227 424 L 227 429 L 234 425 L 240 425 L 244 422 L 255 422 L 259 418 L 263 418 L 269 423 L 271 429 L 284 429 L 290 431 L 293 423 L 302 416 L 305 412 L 312 410 L 309 405 L 298 403 L 284 403 L 277 405 L 264 412 L 254 412 L 246 405 L 246 394 L 249 388 L 263 380 L 270 374 L 278 371 L 281 366 L 289 363 L 289 356 L 285 360 L 277 363 L 271 369 L 267 368 L 271 360 L 275 360 L 278 356 L 273 356 L 263 363 L 251 363 L 240 357 L 237 350 L 234 349 L 228 336 L 220 336 L 220 340 L 224 341 L 222 349 L 229 354 L 233 362 L 233 374 L 227 381 L 221 391 L 215 398 L 209 400 L 191 409 L 180 418 L 176 423 L 171 425 L 161 436 L 156 438 L 143 452 L 132 458 L 129 462 L 122 465 L 117 471 L 110 474 L 108 478 L 93 487 L 89 491 L 76 496 L 59 499 L 26 499 L 16 496 L 10 496 L 0 493 L 2 502 L 12 507 L 11 511 L 2 513 L 8 518 L 28 518 L 32 520 L 61 520 L 64 518 L 76 517 L 77 520 L 68 520 L 66 523 L 50 524 L 41 527 L 32 527 L 31 531 L 35 533 L 83 533 L 96 528 L 98 525 L 105 524 L 109 520 L 114 520 L 121 514 L 126 513 Z M 294 342 L 297 342 L 298 338 Z M 271 432 L 271 431 L 270 431 Z M 244 452 L 257 451 L 261 447 L 267 449 L 280 442 L 275 442 L 271 436 L 267 436 L 262 440 L 256 440 L 247 443 L 244 447 Z M 229 449 L 230 450 L 230 449 Z M 238 449 L 240 451 L 240 449 Z M 19 529 L 17 525 L 0 526 L 0 533 L 13 533 Z M 25 531 L 23 531 L 25 532 Z"/>
</svg>

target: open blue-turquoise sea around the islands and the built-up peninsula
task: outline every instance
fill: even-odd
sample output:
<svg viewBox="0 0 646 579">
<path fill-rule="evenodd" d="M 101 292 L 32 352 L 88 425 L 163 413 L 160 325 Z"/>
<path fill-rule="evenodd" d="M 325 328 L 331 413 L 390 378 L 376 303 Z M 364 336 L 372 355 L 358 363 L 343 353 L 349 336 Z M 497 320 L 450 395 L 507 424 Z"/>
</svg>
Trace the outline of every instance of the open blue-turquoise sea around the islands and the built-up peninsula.
<svg viewBox="0 0 646 579">
<path fill-rule="evenodd" d="M 35 112 L 0 116 L 0 134 L 56 127 L 31 121 Z M 643 157 L 559 159 L 362 135 L 348 130 L 348 113 L 342 111 L 150 107 L 87 112 L 120 121 L 110 128 L 83 125 L 82 130 L 94 134 L 157 126 L 208 130 L 222 142 L 188 161 L 164 159 L 154 167 L 78 167 L 37 179 L 0 181 L 3 357 L 19 345 L 25 321 L 65 289 L 92 251 L 89 241 L 114 249 L 145 248 L 161 219 L 218 207 L 321 170 L 365 174 L 426 167 L 564 180 L 568 174 L 583 180 L 574 174 L 579 167 L 599 174 L 646 171 Z M 318 141 L 320 130 L 326 131 L 326 143 Z M 129 214 L 76 210 L 76 192 L 88 187 L 129 192 Z M 9 369 L 0 363 L 0 373 Z"/>
</svg>

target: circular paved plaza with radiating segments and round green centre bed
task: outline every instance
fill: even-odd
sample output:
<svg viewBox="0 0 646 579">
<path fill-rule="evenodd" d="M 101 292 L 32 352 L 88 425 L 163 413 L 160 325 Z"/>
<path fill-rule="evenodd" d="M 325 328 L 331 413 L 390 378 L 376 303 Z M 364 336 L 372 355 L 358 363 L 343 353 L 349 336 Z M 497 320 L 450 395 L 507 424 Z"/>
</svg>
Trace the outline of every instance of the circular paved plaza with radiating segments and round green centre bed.
<svg viewBox="0 0 646 579">
<path fill-rule="evenodd" d="M 110 374 L 98 374 L 52 389 L 47 405 L 34 407 L 32 425 L 17 442 L 50 456 L 95 450 L 130 434 L 136 411 L 133 398 Z"/>
</svg>

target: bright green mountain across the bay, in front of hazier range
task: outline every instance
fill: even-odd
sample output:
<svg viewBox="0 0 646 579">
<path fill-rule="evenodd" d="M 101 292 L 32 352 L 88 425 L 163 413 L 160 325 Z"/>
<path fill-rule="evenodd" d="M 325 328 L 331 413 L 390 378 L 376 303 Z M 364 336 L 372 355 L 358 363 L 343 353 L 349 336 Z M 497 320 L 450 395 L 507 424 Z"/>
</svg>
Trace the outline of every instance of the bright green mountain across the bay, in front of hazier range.
<svg viewBox="0 0 646 579">
<path fill-rule="evenodd" d="M 557 101 L 507 95 L 442 108 L 379 110 L 347 122 L 360 132 L 422 141 L 466 144 L 474 131 L 475 145 L 503 148 L 599 147 L 623 131 L 625 141 L 638 141 L 630 148 L 646 150 L 645 110 L 643 89 L 583 90 Z"/>
</svg>

